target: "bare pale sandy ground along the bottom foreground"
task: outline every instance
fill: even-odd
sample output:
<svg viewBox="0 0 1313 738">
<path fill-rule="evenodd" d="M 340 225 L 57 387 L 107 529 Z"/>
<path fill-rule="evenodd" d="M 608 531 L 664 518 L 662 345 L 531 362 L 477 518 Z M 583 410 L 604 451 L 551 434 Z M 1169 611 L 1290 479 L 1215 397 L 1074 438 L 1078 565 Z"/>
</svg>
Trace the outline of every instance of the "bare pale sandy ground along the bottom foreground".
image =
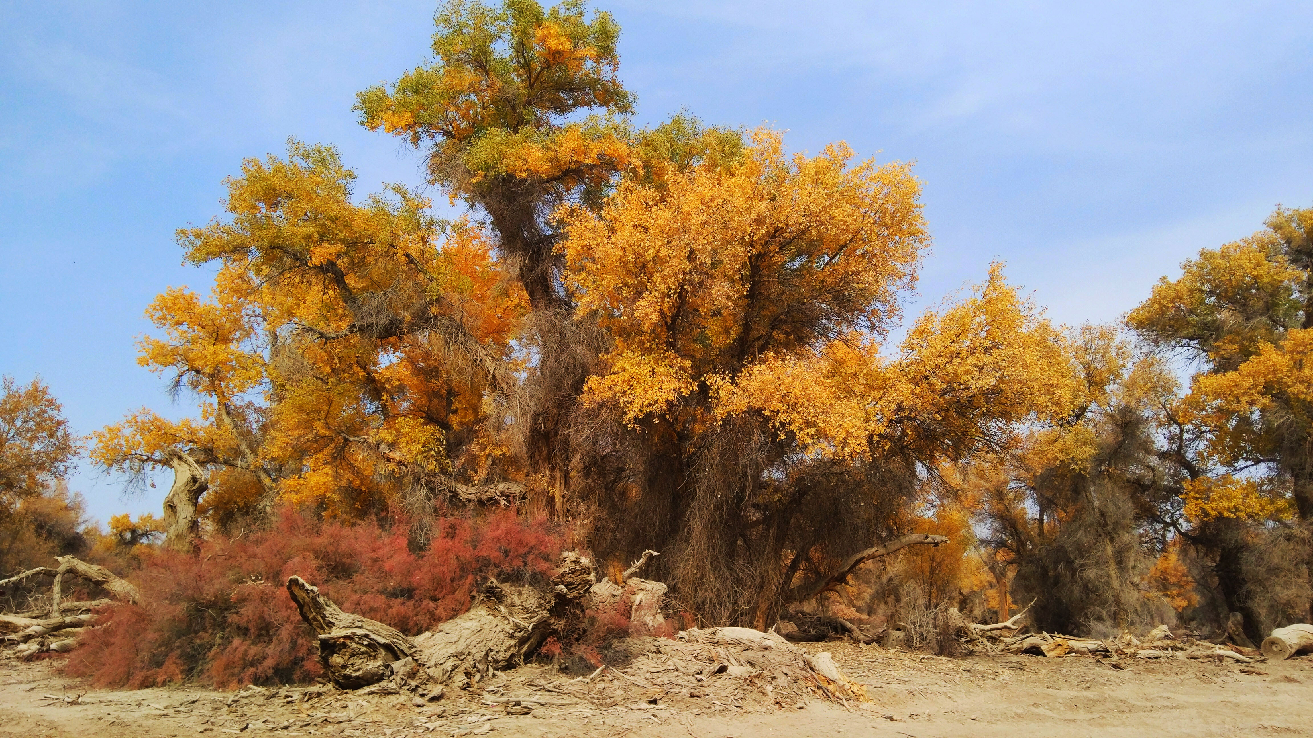
<svg viewBox="0 0 1313 738">
<path fill-rule="evenodd" d="M 831 651 L 850 676 L 868 684 L 874 701 L 713 704 L 684 692 L 653 697 L 618 679 L 571 687 L 530 666 L 494 679 L 488 693 L 532 691 L 561 704 L 512 716 L 463 692 L 416 706 L 408 695 L 97 691 L 60 675 L 58 661 L 11 659 L 0 662 L 0 737 L 1313 735 L 1313 657 L 1246 666 L 1123 659 L 1125 668 L 1117 670 L 1090 657 L 948 659 L 848 643 L 813 650 Z"/>
</svg>

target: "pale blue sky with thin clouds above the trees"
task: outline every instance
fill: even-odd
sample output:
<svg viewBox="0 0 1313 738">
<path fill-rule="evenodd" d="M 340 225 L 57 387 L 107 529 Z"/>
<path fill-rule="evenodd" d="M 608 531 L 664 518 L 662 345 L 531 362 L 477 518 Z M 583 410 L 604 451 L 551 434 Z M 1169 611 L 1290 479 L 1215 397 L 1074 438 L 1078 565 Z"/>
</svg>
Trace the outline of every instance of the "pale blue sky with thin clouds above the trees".
<svg viewBox="0 0 1313 738">
<path fill-rule="evenodd" d="M 639 122 L 680 108 L 916 162 L 935 250 L 916 313 L 1007 263 L 1062 323 L 1115 320 L 1203 247 L 1313 205 L 1313 4 L 595 4 L 624 28 Z M 0 373 L 39 374 L 79 433 L 190 411 L 135 364 L 147 302 L 207 286 L 173 230 L 294 135 L 361 192 L 419 162 L 356 91 L 425 59 L 435 4 L 0 5 Z M 161 479 L 167 482 L 167 479 Z M 84 467 L 95 517 L 158 510 Z"/>
</svg>

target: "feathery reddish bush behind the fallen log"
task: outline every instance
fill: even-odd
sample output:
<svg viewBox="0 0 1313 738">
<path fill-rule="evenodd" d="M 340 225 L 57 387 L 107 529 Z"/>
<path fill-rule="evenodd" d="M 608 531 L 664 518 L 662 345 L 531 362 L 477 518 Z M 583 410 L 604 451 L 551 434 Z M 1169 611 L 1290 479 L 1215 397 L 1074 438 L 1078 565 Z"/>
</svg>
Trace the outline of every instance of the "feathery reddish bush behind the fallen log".
<svg viewBox="0 0 1313 738">
<path fill-rule="evenodd" d="M 415 634 L 467 609 L 477 579 L 545 575 L 563 548 L 548 523 L 511 511 L 442 519 L 419 552 L 402 525 L 385 531 L 284 512 L 269 531 L 214 537 L 192 555 L 150 557 L 131 576 L 143 604 L 109 608 L 67 668 L 106 687 L 306 683 L 320 667 L 282 586 L 288 576 L 318 584 L 348 612 Z"/>
</svg>

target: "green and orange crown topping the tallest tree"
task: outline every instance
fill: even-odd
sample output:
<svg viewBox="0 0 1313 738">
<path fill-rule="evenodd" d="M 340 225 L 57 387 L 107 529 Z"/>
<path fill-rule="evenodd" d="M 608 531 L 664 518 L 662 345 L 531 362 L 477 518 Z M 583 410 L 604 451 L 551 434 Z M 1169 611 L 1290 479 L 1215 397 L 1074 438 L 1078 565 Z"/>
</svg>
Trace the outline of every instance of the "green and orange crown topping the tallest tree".
<svg viewBox="0 0 1313 738">
<path fill-rule="evenodd" d="M 590 109 L 632 113 L 608 13 L 586 18 L 575 3 L 452 3 L 437 24 L 437 62 L 361 92 L 356 110 L 370 130 L 415 147 L 432 142 L 433 181 L 453 197 L 481 200 L 495 189 L 490 179 L 506 177 L 558 192 L 600 186 L 625 167 L 624 125 L 576 121 Z"/>
</svg>

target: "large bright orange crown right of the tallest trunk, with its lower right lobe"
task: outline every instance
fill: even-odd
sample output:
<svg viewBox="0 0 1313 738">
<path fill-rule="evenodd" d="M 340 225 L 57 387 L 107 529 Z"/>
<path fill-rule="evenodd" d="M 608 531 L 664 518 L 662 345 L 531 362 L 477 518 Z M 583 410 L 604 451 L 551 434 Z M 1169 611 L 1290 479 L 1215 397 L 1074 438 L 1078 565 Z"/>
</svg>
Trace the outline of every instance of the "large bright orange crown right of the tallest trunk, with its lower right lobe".
<svg viewBox="0 0 1313 738">
<path fill-rule="evenodd" d="M 805 452 L 844 458 L 962 458 L 1070 411 L 1061 340 L 997 268 L 880 356 L 869 336 L 892 326 L 928 242 L 906 165 L 850 167 L 842 144 L 786 158 L 773 131 L 752 142 L 737 164 L 559 213 L 578 313 L 616 339 L 586 401 L 635 424 L 705 387 L 692 399 L 710 415 L 762 412 Z"/>
</svg>

